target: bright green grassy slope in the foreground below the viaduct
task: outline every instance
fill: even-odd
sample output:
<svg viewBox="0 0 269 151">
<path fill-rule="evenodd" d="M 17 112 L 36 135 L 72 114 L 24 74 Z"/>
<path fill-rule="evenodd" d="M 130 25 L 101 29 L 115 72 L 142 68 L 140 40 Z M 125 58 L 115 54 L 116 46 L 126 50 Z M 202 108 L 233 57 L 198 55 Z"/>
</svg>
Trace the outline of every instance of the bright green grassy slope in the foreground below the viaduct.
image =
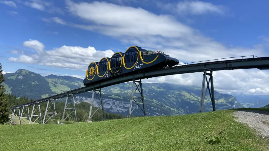
<svg viewBox="0 0 269 151">
<path fill-rule="evenodd" d="M 0 126 L 2 150 L 269 150 L 232 110 L 65 125 Z M 17 135 L 18 132 L 20 135 Z M 208 143 L 214 139 L 219 143 Z M 49 142 L 53 145 L 49 145 Z M 208 141 L 207 141 L 208 140 Z M 217 142 L 217 141 L 215 141 Z M 16 143 L 16 145 L 14 145 Z M 27 145 L 26 145 L 27 144 Z"/>
</svg>

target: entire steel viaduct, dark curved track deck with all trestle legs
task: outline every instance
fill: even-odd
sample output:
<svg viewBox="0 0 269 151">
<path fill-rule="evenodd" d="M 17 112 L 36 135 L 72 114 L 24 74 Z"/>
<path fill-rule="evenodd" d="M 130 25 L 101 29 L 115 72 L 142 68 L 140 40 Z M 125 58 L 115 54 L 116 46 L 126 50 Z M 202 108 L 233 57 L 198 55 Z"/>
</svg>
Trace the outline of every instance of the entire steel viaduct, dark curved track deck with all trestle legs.
<svg viewBox="0 0 269 151">
<path fill-rule="evenodd" d="M 10 107 L 11 115 L 12 115 L 12 117 L 10 118 L 10 125 L 14 122 L 14 119 L 15 119 L 14 115 L 15 114 L 19 115 L 18 124 L 21 124 L 22 118 L 29 119 L 29 124 L 31 124 L 32 118 L 35 119 L 34 122 L 36 122 L 37 119 L 39 118 L 40 124 L 45 124 L 49 119 L 52 118 L 52 116 L 55 116 L 55 124 L 57 124 L 54 100 L 60 99 L 60 98 L 66 98 L 61 124 L 63 124 L 63 121 L 72 112 L 75 112 L 75 120 L 77 123 L 74 95 L 81 94 L 81 93 L 88 92 L 88 91 L 93 91 L 91 102 L 90 102 L 90 112 L 89 112 L 88 122 L 91 122 L 91 117 L 93 116 L 94 113 L 99 112 L 98 109 L 100 109 L 100 107 L 102 108 L 103 112 L 102 113 L 99 112 L 99 113 L 103 117 L 103 120 L 105 120 L 104 105 L 103 105 L 103 100 L 102 100 L 101 88 L 108 87 L 108 86 L 115 85 L 115 84 L 119 84 L 119 83 L 123 83 L 123 82 L 128 82 L 128 81 L 133 81 L 133 87 L 132 87 L 132 93 L 131 93 L 131 99 L 130 99 L 129 114 L 126 118 L 132 117 L 131 113 L 133 112 L 133 110 L 137 106 L 142 110 L 142 112 L 144 113 L 144 116 L 146 116 L 141 79 L 159 77 L 159 76 L 164 76 L 164 75 L 196 73 L 196 72 L 204 72 L 202 88 L 201 88 L 201 99 L 200 99 L 199 111 L 202 112 L 203 103 L 204 103 L 204 99 L 205 99 L 207 90 L 209 91 L 213 111 L 215 111 L 215 97 L 214 97 L 214 85 L 213 85 L 212 73 L 213 73 L 213 71 L 235 70 L 235 69 L 267 70 L 267 69 L 269 69 L 269 57 L 241 56 L 241 57 L 230 57 L 230 58 L 206 60 L 206 61 L 200 61 L 200 62 L 184 63 L 184 64 L 178 64 L 174 67 L 166 67 L 166 68 L 163 68 L 160 70 L 149 71 L 149 72 L 144 72 L 144 73 L 137 73 L 137 74 L 133 74 L 133 75 L 114 78 L 114 79 L 107 80 L 107 81 L 101 81 L 100 83 L 97 83 L 94 85 L 74 89 L 71 91 L 67 91 L 67 92 L 64 92 L 61 94 L 49 96 L 47 98 L 35 100 L 33 102 L 25 103 L 22 105 L 12 106 L 12 107 Z M 208 73 L 208 71 L 209 71 L 209 73 Z M 209 79 L 207 78 L 207 76 L 209 76 Z M 205 89 L 205 87 L 206 87 L 206 89 Z M 135 90 L 134 90 L 134 88 L 135 88 Z M 139 97 L 134 96 L 134 93 L 137 90 L 140 93 Z M 93 106 L 94 94 L 97 95 L 97 98 L 100 101 L 100 103 L 99 103 L 100 106 L 98 108 Z M 140 99 L 140 100 L 138 101 L 136 99 Z M 45 110 L 44 117 L 41 117 L 41 110 L 40 110 L 40 104 L 39 104 L 41 102 L 47 102 L 47 107 Z M 132 109 L 133 102 L 135 102 L 136 106 Z M 142 107 L 139 106 L 140 102 L 142 103 Z M 69 103 L 71 103 L 71 104 L 69 105 Z M 30 105 L 33 105 L 33 109 L 31 112 L 29 112 Z M 71 107 L 68 108 L 68 105 Z M 95 108 L 95 112 L 93 114 L 91 114 L 92 107 Z M 51 112 L 49 112 L 50 108 L 51 108 Z M 39 110 L 39 113 L 35 114 L 36 110 Z M 69 113 L 68 110 L 72 110 L 72 112 Z M 65 112 L 69 113 L 66 117 L 65 117 Z M 50 114 L 50 116 L 48 114 Z M 46 116 L 49 117 L 49 119 L 47 121 L 45 121 Z M 34 118 L 34 117 L 37 117 L 37 118 Z"/>
</svg>

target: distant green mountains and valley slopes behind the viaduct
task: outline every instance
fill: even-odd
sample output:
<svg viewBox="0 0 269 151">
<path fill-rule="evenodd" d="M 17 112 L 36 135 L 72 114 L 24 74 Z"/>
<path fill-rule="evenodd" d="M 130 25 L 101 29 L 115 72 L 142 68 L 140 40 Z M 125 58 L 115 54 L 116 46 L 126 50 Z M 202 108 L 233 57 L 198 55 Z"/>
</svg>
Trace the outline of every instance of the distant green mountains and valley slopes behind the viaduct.
<svg viewBox="0 0 269 151">
<path fill-rule="evenodd" d="M 15 73 L 7 73 L 5 76 L 5 93 L 26 96 L 29 99 L 45 98 L 72 89 L 84 87 L 82 79 L 70 76 L 48 75 L 41 76 L 34 72 L 19 69 Z M 143 80 L 142 80 L 143 81 Z M 129 110 L 132 83 L 126 82 L 102 88 L 102 98 L 107 112 L 127 115 Z M 143 92 L 148 116 L 182 115 L 199 112 L 201 89 L 182 85 L 165 83 L 143 83 Z M 242 97 L 241 97 L 242 98 Z M 241 99 L 240 98 L 240 99 Z M 91 92 L 85 92 L 75 96 L 76 102 L 90 102 Z M 255 98 L 253 98 L 255 99 Z M 249 100 L 249 102 L 251 102 Z M 244 107 L 248 102 L 237 101 L 228 94 L 220 94 L 215 91 L 216 109 L 231 109 L 232 107 Z M 259 102 L 261 106 L 268 102 Z M 251 103 L 250 103 L 251 104 Z M 253 104 L 253 103 L 252 103 Z M 254 102 L 255 104 L 255 102 Z M 97 100 L 95 101 L 97 105 Z M 210 96 L 206 96 L 203 111 L 212 111 Z M 142 116 L 140 109 L 135 109 L 133 115 Z"/>
</svg>

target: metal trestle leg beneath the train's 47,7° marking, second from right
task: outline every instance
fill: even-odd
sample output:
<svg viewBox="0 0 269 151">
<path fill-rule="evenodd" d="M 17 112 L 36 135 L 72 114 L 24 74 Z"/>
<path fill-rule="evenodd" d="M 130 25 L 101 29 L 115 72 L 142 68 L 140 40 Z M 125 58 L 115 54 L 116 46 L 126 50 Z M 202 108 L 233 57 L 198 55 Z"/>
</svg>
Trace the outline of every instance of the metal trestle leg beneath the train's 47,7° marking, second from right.
<svg viewBox="0 0 269 151">
<path fill-rule="evenodd" d="M 137 85 L 136 83 L 139 83 L 139 84 Z M 134 90 L 134 85 L 136 86 L 135 90 Z M 140 86 L 140 90 L 139 90 L 139 86 Z M 139 97 L 134 96 L 134 93 L 136 92 L 136 90 L 138 90 L 139 93 L 140 93 Z M 140 99 L 140 100 L 137 103 L 137 101 L 135 99 Z M 136 103 L 136 106 L 132 110 L 133 101 Z M 139 106 L 139 103 L 141 101 L 142 101 L 143 109 Z M 137 106 L 142 110 L 142 112 L 144 113 L 144 116 L 146 116 L 145 103 L 144 103 L 144 94 L 143 94 L 143 87 L 142 87 L 141 79 L 140 79 L 140 81 L 133 80 L 133 87 L 132 87 L 132 94 L 131 94 L 131 100 L 130 100 L 129 114 L 128 114 L 127 118 L 132 118 L 131 113 L 134 111 L 134 109 L 136 109 Z"/>
</svg>

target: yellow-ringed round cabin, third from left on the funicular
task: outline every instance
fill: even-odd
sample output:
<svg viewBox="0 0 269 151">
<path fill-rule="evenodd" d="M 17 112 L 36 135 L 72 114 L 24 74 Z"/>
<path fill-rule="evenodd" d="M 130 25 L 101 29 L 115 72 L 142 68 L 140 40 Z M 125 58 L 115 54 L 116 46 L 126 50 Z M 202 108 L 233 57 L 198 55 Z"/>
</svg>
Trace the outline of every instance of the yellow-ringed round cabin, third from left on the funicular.
<svg viewBox="0 0 269 151">
<path fill-rule="evenodd" d="M 122 59 L 123 59 L 124 53 L 122 52 L 116 52 L 112 55 L 110 62 L 109 62 L 109 70 L 111 74 L 118 74 L 121 71 L 122 68 Z"/>
</svg>

